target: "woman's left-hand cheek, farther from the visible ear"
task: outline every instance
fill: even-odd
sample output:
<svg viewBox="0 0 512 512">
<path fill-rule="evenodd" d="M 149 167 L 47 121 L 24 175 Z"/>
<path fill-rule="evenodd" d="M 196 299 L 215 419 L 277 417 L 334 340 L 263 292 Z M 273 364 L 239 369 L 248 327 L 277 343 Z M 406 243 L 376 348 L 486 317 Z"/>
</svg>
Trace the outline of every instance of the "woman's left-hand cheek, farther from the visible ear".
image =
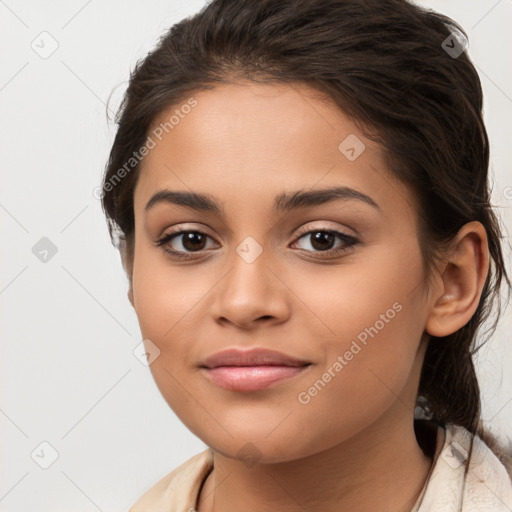
<svg viewBox="0 0 512 512">
<path fill-rule="evenodd" d="M 189 419 L 200 417 L 202 409 L 195 410 L 199 402 L 192 398 L 200 396 L 190 385 L 197 363 L 192 351 L 198 342 L 198 315 L 204 317 L 203 302 L 217 279 L 206 269 L 172 267 L 142 244 L 137 251 L 132 277 L 135 311 L 142 338 L 154 344 L 146 350 L 158 349 L 150 371 L 169 406 L 194 430 Z"/>
</svg>

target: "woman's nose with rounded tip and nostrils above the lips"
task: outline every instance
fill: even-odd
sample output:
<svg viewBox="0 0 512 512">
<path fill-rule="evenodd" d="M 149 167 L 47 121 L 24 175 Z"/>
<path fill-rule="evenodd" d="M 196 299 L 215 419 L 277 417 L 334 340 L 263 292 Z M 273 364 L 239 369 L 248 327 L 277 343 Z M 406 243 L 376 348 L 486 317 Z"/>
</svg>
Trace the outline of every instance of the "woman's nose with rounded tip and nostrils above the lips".
<svg viewBox="0 0 512 512">
<path fill-rule="evenodd" d="M 244 330 L 285 322 L 290 316 L 290 293 L 271 267 L 265 251 L 252 262 L 235 252 L 231 267 L 214 289 L 214 320 Z"/>
</svg>

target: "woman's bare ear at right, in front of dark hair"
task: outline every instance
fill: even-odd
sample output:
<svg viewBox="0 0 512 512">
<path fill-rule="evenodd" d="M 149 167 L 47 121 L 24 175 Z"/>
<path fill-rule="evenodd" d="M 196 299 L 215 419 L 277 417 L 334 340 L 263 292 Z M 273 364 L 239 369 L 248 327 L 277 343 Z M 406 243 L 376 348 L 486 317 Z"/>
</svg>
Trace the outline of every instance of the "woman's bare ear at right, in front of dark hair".
<svg viewBox="0 0 512 512">
<path fill-rule="evenodd" d="M 466 325 L 475 313 L 489 272 L 489 248 L 484 226 L 468 222 L 457 233 L 443 259 L 444 270 L 425 326 L 436 337 Z"/>
</svg>

